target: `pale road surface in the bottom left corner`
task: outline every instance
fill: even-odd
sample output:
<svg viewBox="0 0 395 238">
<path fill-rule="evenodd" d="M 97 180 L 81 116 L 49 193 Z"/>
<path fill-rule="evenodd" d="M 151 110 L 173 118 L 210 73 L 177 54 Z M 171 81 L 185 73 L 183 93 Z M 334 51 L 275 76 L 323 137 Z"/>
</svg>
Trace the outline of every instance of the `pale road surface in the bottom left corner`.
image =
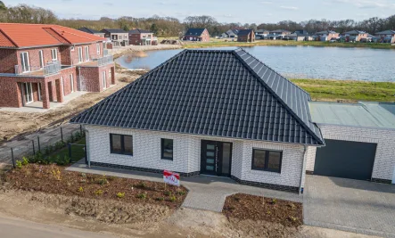
<svg viewBox="0 0 395 238">
<path fill-rule="evenodd" d="M 109 234 L 95 234 L 60 226 L 44 225 L 15 217 L 0 216 L 2 238 L 115 238 Z"/>
</svg>

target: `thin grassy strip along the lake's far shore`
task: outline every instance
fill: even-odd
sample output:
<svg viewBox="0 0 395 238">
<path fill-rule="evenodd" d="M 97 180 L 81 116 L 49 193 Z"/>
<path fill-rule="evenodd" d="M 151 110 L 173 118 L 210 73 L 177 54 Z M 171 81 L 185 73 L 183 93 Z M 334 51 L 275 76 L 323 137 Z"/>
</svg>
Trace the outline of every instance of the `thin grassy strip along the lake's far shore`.
<svg viewBox="0 0 395 238">
<path fill-rule="evenodd" d="M 365 47 L 374 49 L 395 49 L 395 45 L 380 44 L 380 43 L 330 43 L 321 41 L 286 41 L 286 40 L 258 40 L 254 43 L 247 42 L 226 42 L 224 40 L 212 39 L 210 42 L 191 43 L 185 42 L 184 48 L 207 48 L 207 47 L 222 47 L 222 46 L 238 46 L 248 47 L 256 45 L 284 45 L 284 46 L 332 46 L 332 47 Z"/>
</svg>

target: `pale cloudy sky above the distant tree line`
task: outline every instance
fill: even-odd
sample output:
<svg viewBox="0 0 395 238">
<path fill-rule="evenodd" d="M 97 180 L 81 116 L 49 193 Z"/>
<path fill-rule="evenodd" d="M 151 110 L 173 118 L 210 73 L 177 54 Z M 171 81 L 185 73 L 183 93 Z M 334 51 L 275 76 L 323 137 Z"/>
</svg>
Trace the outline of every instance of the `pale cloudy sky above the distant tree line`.
<svg viewBox="0 0 395 238">
<path fill-rule="evenodd" d="M 52 10 L 61 18 L 99 19 L 102 16 L 184 20 L 210 15 L 220 22 L 262 23 L 309 19 L 364 20 L 395 13 L 395 0 L 3 0 L 6 5 L 30 4 Z"/>
</svg>

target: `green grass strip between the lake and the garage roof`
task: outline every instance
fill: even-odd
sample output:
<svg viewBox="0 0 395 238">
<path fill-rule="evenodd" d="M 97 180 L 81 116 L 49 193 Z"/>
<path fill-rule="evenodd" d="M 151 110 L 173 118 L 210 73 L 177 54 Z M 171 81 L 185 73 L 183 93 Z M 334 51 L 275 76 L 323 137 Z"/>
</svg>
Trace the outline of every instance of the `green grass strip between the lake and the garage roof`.
<svg viewBox="0 0 395 238">
<path fill-rule="evenodd" d="M 395 102 L 395 83 L 348 80 L 292 79 L 317 101 Z"/>
</svg>

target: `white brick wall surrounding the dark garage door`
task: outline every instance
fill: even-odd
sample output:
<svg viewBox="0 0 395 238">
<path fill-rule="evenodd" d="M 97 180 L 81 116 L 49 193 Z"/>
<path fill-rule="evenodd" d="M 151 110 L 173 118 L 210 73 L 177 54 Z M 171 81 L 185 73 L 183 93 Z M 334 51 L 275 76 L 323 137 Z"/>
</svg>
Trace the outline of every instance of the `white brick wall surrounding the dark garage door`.
<svg viewBox="0 0 395 238">
<path fill-rule="evenodd" d="M 320 125 L 325 139 L 377 144 L 372 177 L 392 180 L 395 168 L 395 131 L 364 127 Z M 308 152 L 307 170 L 314 171 L 316 148 Z"/>
</svg>

